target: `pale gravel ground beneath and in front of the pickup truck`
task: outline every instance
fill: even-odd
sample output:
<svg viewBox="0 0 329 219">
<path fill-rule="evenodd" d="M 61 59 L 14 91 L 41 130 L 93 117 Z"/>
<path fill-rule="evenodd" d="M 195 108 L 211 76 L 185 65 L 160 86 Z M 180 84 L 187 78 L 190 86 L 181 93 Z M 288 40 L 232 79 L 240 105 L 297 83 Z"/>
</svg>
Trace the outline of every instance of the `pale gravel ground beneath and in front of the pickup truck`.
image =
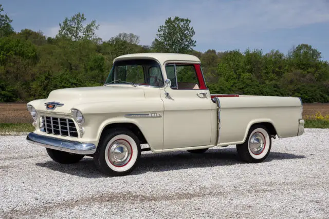
<svg viewBox="0 0 329 219">
<path fill-rule="evenodd" d="M 273 140 L 267 160 L 234 146 L 204 154 L 143 152 L 128 176 L 105 177 L 92 158 L 53 162 L 25 136 L 0 136 L 0 217 L 329 217 L 329 129 Z"/>
</svg>

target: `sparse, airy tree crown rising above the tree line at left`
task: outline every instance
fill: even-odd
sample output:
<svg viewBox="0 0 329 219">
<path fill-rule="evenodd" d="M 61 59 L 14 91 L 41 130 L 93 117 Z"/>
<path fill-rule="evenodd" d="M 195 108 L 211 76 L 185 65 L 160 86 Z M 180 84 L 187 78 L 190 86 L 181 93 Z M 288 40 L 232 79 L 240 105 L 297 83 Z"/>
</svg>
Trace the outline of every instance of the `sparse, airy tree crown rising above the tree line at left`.
<svg viewBox="0 0 329 219">
<path fill-rule="evenodd" d="M 77 13 L 71 18 L 65 17 L 63 23 L 60 23 L 60 30 L 58 31 L 58 37 L 69 38 L 72 41 L 79 41 L 81 39 L 96 39 L 95 33 L 98 30 L 99 25 L 93 20 L 87 25 L 83 25 L 86 21 L 84 14 Z"/>
</svg>

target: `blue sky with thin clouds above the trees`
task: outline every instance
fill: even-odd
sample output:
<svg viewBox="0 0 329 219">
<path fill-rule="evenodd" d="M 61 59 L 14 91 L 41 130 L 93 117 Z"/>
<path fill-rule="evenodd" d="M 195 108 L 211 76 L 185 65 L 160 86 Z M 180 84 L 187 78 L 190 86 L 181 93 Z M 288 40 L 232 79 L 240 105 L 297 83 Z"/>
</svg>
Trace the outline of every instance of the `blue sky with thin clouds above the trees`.
<svg viewBox="0 0 329 219">
<path fill-rule="evenodd" d="M 15 31 L 29 28 L 54 36 L 65 16 L 84 13 L 96 19 L 98 36 L 107 40 L 120 32 L 140 36 L 151 45 L 169 16 L 191 19 L 196 50 L 246 48 L 287 53 L 301 43 L 312 45 L 329 61 L 329 0 L 3 0 Z"/>
</svg>

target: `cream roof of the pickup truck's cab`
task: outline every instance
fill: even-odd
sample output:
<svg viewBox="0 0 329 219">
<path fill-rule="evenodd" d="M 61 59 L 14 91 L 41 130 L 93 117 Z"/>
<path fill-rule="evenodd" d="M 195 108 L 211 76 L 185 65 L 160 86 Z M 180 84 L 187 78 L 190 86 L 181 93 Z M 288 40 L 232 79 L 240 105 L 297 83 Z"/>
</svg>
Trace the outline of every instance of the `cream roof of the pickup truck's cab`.
<svg viewBox="0 0 329 219">
<path fill-rule="evenodd" d="M 188 54 L 178 54 L 178 53 L 135 53 L 135 54 L 127 54 L 116 57 L 113 62 L 122 60 L 122 59 L 130 59 L 130 58 L 154 58 L 161 65 L 168 61 L 185 61 L 185 62 L 196 62 L 200 63 L 200 59 L 194 55 Z"/>
</svg>

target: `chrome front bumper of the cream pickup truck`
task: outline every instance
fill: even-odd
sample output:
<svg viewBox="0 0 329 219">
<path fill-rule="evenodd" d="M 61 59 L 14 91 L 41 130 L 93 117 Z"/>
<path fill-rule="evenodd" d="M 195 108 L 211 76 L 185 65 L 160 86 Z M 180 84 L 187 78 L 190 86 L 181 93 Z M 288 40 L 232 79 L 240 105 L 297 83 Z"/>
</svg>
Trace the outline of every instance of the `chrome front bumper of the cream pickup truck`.
<svg viewBox="0 0 329 219">
<path fill-rule="evenodd" d="M 94 154 L 96 152 L 96 146 L 91 143 L 67 141 L 60 138 L 35 134 L 33 132 L 27 135 L 26 140 L 32 144 L 69 153 Z"/>
</svg>

